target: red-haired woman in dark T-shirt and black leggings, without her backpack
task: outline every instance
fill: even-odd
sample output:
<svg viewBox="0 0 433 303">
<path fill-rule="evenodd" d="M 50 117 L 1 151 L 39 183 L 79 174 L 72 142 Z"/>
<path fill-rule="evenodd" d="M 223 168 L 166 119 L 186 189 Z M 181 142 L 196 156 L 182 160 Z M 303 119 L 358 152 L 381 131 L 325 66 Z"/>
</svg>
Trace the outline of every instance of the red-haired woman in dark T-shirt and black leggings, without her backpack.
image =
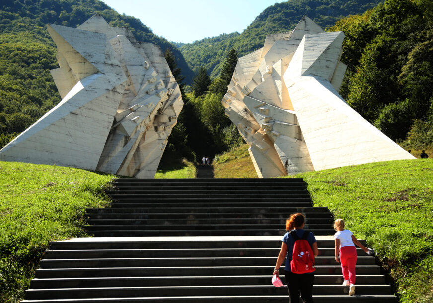
<svg viewBox="0 0 433 303">
<path fill-rule="evenodd" d="M 292 214 L 286 220 L 286 230 L 289 232 L 282 239 L 283 243 L 273 273 L 273 275 L 279 274 L 280 266 L 286 258 L 284 276 L 289 290 L 290 303 L 299 303 L 299 293 L 304 303 L 313 302 L 314 271 L 303 274 L 292 272 L 293 262 L 291 261 L 293 260 L 293 249 L 296 241 L 306 240 L 311 247 L 314 258 L 319 254 L 316 238 L 312 232 L 303 230 L 304 225 L 305 217 L 301 213 Z M 314 266 L 313 270 L 315 270 Z"/>
</svg>

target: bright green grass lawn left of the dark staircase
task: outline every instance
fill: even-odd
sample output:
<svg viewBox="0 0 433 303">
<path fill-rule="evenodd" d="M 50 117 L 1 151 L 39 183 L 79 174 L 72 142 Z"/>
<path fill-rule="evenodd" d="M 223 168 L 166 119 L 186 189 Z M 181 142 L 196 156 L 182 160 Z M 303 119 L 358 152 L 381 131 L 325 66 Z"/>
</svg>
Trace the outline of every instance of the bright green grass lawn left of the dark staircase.
<svg viewBox="0 0 433 303">
<path fill-rule="evenodd" d="M 113 175 L 59 166 L 0 162 L 0 302 L 29 288 L 49 241 L 86 236 L 87 207 L 105 207 Z"/>
</svg>

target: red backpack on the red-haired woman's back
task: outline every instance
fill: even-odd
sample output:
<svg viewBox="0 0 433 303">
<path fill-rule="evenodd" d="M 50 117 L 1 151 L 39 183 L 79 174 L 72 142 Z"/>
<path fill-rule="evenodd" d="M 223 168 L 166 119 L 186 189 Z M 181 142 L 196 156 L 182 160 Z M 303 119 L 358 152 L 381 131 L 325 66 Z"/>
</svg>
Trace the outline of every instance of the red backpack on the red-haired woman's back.
<svg viewBox="0 0 433 303">
<path fill-rule="evenodd" d="M 295 231 L 290 231 L 294 240 L 290 269 L 294 274 L 311 273 L 316 270 L 313 250 L 307 241 L 309 234 L 310 232 L 305 231 L 302 238 L 299 238 Z"/>
</svg>

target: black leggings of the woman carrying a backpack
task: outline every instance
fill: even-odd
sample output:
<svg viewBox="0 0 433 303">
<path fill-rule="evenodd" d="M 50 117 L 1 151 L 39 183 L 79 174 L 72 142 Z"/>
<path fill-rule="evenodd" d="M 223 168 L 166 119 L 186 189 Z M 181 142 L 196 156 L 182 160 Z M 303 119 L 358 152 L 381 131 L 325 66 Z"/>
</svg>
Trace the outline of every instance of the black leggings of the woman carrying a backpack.
<svg viewBox="0 0 433 303">
<path fill-rule="evenodd" d="M 284 271 L 290 303 L 299 303 L 299 292 L 304 303 L 313 303 L 314 274 L 293 274 Z"/>
</svg>

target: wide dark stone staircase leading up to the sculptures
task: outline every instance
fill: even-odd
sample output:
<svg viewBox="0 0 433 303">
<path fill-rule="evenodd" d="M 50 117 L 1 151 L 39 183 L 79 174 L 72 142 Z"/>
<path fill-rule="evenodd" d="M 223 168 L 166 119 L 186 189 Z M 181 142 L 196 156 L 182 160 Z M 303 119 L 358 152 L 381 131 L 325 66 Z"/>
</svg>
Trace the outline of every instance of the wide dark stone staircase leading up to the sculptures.
<svg viewBox="0 0 433 303">
<path fill-rule="evenodd" d="M 108 194 L 111 208 L 87 209 L 95 237 L 50 243 L 22 302 L 287 303 L 271 277 L 293 212 L 318 241 L 316 303 L 397 302 L 361 249 L 347 295 L 332 216 L 301 179 L 119 179 Z"/>
</svg>

